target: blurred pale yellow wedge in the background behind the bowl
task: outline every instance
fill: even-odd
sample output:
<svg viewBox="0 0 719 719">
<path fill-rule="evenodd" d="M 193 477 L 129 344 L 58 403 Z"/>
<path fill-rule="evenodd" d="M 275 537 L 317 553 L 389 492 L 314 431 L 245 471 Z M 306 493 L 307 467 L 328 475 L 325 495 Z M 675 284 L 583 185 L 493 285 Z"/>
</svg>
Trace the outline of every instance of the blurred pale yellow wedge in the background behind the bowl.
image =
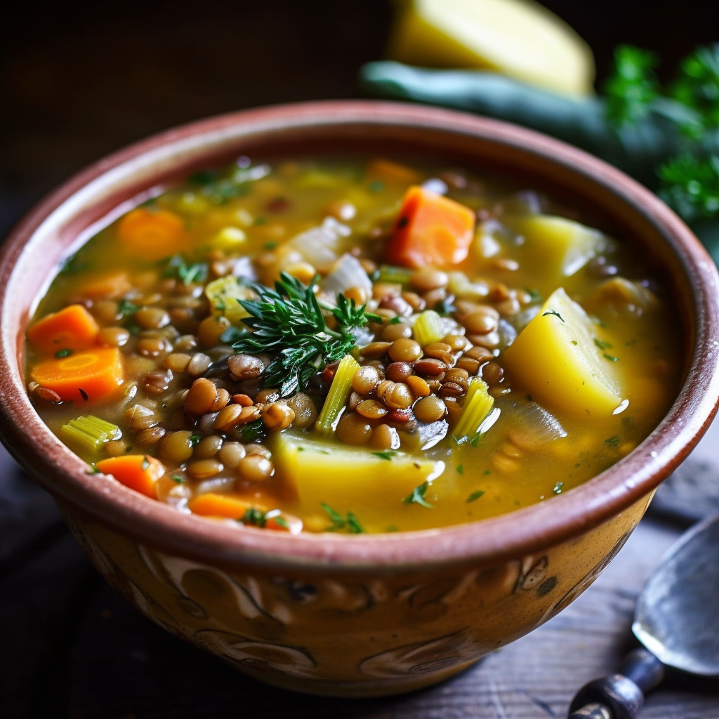
<svg viewBox="0 0 719 719">
<path fill-rule="evenodd" d="M 592 92 L 592 51 L 564 21 L 531 0 L 408 0 L 390 59 L 439 68 L 482 68 L 563 93 Z"/>
</svg>

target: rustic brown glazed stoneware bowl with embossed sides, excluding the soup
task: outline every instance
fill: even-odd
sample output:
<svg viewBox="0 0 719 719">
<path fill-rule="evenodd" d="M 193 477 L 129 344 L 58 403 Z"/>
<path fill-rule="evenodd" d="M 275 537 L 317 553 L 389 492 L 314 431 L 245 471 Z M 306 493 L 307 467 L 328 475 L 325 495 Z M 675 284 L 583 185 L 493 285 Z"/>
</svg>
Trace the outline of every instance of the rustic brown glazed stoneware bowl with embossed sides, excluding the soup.
<svg viewBox="0 0 719 719">
<path fill-rule="evenodd" d="M 654 257 L 684 324 L 684 382 L 651 436 L 587 484 L 489 521 L 375 536 L 289 536 L 178 513 L 91 475 L 29 403 L 24 330 L 60 261 L 144 193 L 237 157 L 407 151 L 498 170 L 576 203 Z M 139 142 L 68 180 L 6 240 L 0 431 L 106 579 L 145 615 L 243 672 L 369 696 L 452 676 L 584 591 L 687 456 L 719 395 L 719 281 L 690 231 L 603 162 L 500 122 L 418 106 L 329 102 L 221 116 Z M 667 338 L 677 342 L 676 337 Z"/>
</svg>

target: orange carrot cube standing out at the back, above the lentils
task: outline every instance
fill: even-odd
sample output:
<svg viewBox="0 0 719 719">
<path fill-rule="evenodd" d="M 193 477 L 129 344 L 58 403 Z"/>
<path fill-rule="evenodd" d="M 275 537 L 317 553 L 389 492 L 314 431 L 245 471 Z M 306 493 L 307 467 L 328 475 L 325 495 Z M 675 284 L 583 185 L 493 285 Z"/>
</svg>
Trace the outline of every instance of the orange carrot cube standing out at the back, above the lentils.
<svg viewBox="0 0 719 719">
<path fill-rule="evenodd" d="M 408 189 L 385 259 L 403 267 L 446 267 L 467 257 L 475 232 L 469 207 L 413 186 Z"/>
</svg>

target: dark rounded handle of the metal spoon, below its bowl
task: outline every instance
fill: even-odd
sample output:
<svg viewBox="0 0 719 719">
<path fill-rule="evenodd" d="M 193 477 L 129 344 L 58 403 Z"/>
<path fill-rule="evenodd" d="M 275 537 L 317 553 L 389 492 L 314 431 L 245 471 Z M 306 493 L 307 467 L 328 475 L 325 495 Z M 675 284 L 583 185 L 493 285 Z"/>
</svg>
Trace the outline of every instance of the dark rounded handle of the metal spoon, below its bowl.
<svg viewBox="0 0 719 719">
<path fill-rule="evenodd" d="M 644 694 L 664 679 L 664 664 L 646 649 L 633 649 L 620 674 L 585 684 L 569 706 L 569 719 L 635 719 Z"/>
</svg>

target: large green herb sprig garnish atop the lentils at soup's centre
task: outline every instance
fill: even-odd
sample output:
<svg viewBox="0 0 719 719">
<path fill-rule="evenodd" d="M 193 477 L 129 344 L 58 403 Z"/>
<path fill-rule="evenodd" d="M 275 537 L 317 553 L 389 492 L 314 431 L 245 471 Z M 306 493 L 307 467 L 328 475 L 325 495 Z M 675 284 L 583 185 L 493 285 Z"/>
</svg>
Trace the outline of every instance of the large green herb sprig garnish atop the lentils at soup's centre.
<svg viewBox="0 0 719 719">
<path fill-rule="evenodd" d="M 283 397 L 305 388 L 316 372 L 350 352 L 356 331 L 368 321 L 381 321 L 342 294 L 337 296 L 336 307 L 322 306 L 312 284 L 303 285 L 281 273 L 274 289 L 249 285 L 257 300 L 239 300 L 250 315 L 244 324 L 253 331 L 232 347 L 236 352 L 273 354 L 262 383 L 278 388 Z M 336 329 L 327 326 L 326 316 L 334 317 Z"/>
</svg>

